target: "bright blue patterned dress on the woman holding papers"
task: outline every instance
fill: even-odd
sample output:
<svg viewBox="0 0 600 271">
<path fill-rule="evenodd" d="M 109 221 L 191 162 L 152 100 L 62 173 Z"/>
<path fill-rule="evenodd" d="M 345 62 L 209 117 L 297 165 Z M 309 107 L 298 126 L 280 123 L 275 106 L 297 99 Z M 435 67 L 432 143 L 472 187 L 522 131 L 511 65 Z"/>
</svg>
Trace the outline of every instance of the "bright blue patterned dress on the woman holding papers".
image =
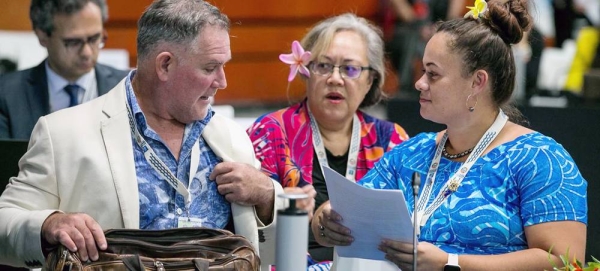
<svg viewBox="0 0 600 271">
<path fill-rule="evenodd" d="M 421 133 L 387 152 L 359 184 L 404 191 L 412 215 L 411 176 L 421 173 L 422 191 L 435 137 Z M 461 165 L 442 157 L 427 206 Z M 586 191 L 587 182 L 562 145 L 538 132 L 522 135 L 475 162 L 458 190 L 421 228 L 420 241 L 459 254 L 523 250 L 526 226 L 565 220 L 587 223 Z"/>
</svg>

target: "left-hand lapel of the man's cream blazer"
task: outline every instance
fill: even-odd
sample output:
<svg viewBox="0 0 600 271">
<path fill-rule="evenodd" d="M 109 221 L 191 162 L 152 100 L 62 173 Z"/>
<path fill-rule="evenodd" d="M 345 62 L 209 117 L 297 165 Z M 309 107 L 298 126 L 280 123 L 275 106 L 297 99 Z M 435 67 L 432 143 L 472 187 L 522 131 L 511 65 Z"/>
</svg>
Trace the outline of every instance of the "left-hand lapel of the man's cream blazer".
<svg viewBox="0 0 600 271">
<path fill-rule="evenodd" d="M 123 224 L 125 228 L 137 229 L 140 226 L 139 194 L 125 104 L 125 79 L 105 96 L 106 103 L 102 111 L 107 118 L 101 123 L 104 146 L 123 214 Z"/>
</svg>

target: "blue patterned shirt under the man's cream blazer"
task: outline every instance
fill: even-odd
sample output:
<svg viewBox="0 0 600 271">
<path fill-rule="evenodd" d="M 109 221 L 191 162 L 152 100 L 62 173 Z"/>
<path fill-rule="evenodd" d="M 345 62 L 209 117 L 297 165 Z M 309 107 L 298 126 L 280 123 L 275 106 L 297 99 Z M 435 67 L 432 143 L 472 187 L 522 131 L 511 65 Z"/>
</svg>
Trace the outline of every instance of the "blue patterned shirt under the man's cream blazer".
<svg viewBox="0 0 600 271">
<path fill-rule="evenodd" d="M 219 194 L 216 183 L 208 178 L 221 161 L 200 136 L 214 112 L 210 109 L 206 118 L 186 125 L 178 161 L 158 134 L 146 123 L 131 86 L 131 78 L 134 75 L 135 71 L 132 71 L 127 76 L 125 88 L 127 102 L 135 116 L 140 134 L 173 175 L 188 188 L 191 199 L 190 217 L 200 219 L 204 227 L 224 228 L 231 216 L 231 205 Z M 176 228 L 179 217 L 187 218 L 188 212 L 183 196 L 150 166 L 133 136 L 131 140 L 140 198 L 140 229 Z M 191 154 L 196 141 L 200 146 L 200 159 L 190 185 Z"/>
</svg>

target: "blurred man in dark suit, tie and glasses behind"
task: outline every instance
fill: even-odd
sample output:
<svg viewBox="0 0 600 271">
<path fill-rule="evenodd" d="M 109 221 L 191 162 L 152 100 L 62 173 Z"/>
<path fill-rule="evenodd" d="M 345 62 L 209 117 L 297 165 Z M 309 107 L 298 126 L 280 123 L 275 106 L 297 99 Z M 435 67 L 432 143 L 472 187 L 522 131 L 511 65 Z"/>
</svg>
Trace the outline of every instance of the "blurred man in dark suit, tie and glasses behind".
<svg viewBox="0 0 600 271">
<path fill-rule="evenodd" d="M 48 58 L 0 77 L 0 138 L 29 139 L 39 117 L 103 95 L 127 75 L 96 63 L 105 0 L 32 0 L 29 16 Z"/>
</svg>

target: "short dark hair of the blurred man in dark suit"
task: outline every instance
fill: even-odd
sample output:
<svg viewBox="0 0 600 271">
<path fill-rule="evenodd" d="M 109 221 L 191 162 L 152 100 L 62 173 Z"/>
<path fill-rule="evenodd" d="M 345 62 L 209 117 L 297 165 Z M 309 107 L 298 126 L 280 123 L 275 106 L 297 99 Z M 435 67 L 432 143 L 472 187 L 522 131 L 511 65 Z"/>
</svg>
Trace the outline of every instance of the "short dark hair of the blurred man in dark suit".
<svg viewBox="0 0 600 271">
<path fill-rule="evenodd" d="M 33 29 L 42 30 L 50 36 L 54 31 L 54 15 L 71 15 L 82 10 L 90 2 L 100 8 L 102 23 L 105 23 L 108 20 L 106 0 L 31 0 L 29 19 Z"/>
</svg>

